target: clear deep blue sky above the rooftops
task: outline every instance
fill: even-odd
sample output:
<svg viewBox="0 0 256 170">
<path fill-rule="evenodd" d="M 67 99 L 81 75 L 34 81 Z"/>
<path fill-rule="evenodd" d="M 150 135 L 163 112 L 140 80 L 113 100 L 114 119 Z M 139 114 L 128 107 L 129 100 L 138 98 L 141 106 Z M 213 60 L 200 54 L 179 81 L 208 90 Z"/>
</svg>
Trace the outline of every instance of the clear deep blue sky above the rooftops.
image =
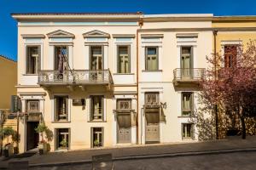
<svg viewBox="0 0 256 170">
<path fill-rule="evenodd" d="M 0 0 L 0 54 L 17 56 L 11 13 L 137 12 L 144 14 L 256 15 L 256 0 Z"/>
</svg>

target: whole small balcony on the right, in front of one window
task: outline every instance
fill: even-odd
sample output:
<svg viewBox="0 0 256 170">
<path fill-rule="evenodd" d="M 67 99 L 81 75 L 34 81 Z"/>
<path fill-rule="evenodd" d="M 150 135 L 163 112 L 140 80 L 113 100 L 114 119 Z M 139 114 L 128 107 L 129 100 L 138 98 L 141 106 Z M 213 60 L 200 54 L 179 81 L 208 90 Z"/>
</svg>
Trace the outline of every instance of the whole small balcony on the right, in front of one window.
<svg viewBox="0 0 256 170">
<path fill-rule="evenodd" d="M 194 68 L 194 69 L 175 69 L 173 71 L 173 83 L 175 86 L 180 83 L 196 83 L 198 84 L 205 78 L 206 69 Z"/>
</svg>

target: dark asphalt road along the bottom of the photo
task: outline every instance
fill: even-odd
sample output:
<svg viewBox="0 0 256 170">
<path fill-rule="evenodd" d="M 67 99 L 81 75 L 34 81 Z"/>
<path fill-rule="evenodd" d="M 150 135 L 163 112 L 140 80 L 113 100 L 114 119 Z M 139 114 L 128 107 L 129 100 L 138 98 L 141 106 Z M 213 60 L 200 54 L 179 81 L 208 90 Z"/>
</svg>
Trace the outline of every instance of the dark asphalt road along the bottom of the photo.
<svg viewBox="0 0 256 170">
<path fill-rule="evenodd" d="M 157 159 L 114 161 L 116 170 L 255 170 L 256 152 L 237 152 L 205 156 L 179 156 Z M 65 167 L 33 167 L 32 170 L 90 170 L 90 164 L 70 165 Z"/>
</svg>

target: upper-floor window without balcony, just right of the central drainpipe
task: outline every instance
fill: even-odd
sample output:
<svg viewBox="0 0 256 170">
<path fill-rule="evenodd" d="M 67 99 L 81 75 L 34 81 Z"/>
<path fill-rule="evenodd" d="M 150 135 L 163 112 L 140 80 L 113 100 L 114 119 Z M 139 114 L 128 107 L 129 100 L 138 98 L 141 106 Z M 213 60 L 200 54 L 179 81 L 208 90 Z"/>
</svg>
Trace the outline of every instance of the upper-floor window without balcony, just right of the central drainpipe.
<svg viewBox="0 0 256 170">
<path fill-rule="evenodd" d="M 146 71 L 158 70 L 158 48 L 146 48 Z"/>
</svg>

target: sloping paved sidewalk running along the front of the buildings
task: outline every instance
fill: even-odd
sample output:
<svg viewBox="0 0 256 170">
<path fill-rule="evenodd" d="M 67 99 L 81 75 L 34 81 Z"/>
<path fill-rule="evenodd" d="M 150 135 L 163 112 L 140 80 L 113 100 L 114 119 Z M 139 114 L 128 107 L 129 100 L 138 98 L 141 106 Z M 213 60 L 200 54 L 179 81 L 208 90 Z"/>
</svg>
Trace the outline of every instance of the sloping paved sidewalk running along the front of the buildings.
<svg viewBox="0 0 256 170">
<path fill-rule="evenodd" d="M 111 149 L 70 150 L 66 152 L 50 152 L 25 158 L 12 158 L 0 162 L 0 168 L 7 167 L 9 161 L 29 161 L 31 167 L 63 165 L 71 163 L 90 163 L 91 156 L 112 153 L 114 160 L 146 159 L 163 156 L 195 156 L 203 154 L 221 154 L 238 151 L 256 151 L 256 137 L 247 139 L 235 137 L 231 139 L 197 142 L 186 144 L 143 144 Z"/>
</svg>

